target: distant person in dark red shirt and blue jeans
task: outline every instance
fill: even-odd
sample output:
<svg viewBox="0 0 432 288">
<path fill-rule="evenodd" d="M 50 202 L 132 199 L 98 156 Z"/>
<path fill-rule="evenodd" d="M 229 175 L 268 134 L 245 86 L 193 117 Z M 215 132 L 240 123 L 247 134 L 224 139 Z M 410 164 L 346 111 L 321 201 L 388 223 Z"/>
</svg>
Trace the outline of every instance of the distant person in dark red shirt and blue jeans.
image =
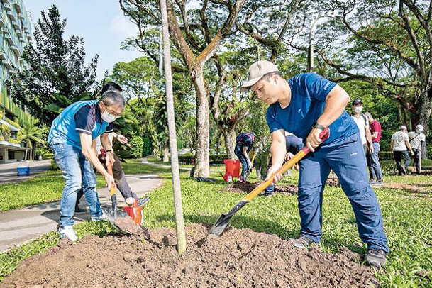
<svg viewBox="0 0 432 288">
<path fill-rule="evenodd" d="M 382 185 L 382 170 L 380 166 L 380 159 L 378 157 L 378 153 L 380 152 L 381 123 L 374 119 L 372 114 L 369 112 L 366 112 L 365 116 L 369 121 L 369 130 L 374 148 L 373 153 L 368 153 L 370 184 Z"/>
</svg>

